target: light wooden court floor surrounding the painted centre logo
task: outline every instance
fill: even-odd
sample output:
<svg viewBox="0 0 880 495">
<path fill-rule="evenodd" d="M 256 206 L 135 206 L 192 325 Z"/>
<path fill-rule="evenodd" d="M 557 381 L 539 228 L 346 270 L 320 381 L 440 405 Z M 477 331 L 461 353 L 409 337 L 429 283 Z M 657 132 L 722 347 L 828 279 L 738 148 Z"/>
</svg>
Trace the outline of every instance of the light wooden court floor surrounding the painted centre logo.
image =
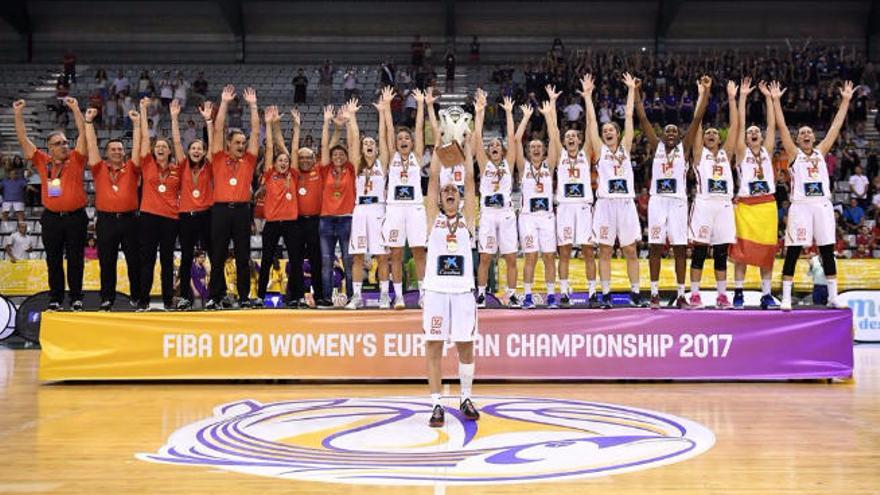
<svg viewBox="0 0 880 495">
<path fill-rule="evenodd" d="M 715 435 L 708 452 L 638 472 L 551 483 L 388 486 L 382 493 L 880 493 L 880 346 L 856 347 L 851 383 L 476 384 L 480 395 L 578 399 L 662 411 Z M 423 397 L 420 384 L 37 381 L 39 351 L 0 351 L 0 493 L 361 493 L 135 458 L 220 404 Z M 479 367 L 478 367 L 479 376 Z M 451 390 L 455 393 L 455 386 Z"/>
</svg>

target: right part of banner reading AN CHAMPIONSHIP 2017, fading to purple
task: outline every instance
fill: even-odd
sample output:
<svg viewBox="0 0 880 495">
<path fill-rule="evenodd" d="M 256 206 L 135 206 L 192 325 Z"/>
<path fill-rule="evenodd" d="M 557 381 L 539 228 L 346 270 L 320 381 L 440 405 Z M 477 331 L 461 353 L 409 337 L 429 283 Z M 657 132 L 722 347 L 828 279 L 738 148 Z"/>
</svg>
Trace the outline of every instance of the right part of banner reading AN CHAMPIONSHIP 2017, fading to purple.
<svg viewBox="0 0 880 495">
<path fill-rule="evenodd" d="M 526 314 L 480 313 L 479 377 L 776 380 L 852 376 L 852 312 L 848 309 Z"/>
</svg>

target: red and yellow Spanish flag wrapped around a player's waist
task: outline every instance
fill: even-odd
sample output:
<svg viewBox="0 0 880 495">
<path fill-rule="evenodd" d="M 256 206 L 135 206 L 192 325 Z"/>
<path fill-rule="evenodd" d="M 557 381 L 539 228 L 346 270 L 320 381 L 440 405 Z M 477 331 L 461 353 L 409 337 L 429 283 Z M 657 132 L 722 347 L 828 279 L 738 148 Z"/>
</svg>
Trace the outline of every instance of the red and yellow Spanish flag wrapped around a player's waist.
<svg viewBox="0 0 880 495">
<path fill-rule="evenodd" d="M 734 214 L 736 244 L 730 257 L 746 265 L 771 268 L 778 240 L 776 199 L 770 194 L 739 198 Z"/>
</svg>

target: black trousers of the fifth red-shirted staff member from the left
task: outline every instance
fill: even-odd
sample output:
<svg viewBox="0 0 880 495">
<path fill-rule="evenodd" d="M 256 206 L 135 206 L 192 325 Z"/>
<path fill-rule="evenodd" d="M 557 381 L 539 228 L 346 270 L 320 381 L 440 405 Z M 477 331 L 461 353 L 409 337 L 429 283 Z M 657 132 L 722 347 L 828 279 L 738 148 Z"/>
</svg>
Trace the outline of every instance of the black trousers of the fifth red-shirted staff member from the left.
<svg viewBox="0 0 880 495">
<path fill-rule="evenodd" d="M 208 292 L 219 301 L 226 293 L 223 260 L 229 241 L 235 252 L 235 287 L 239 299 L 247 299 L 251 292 L 251 206 L 250 204 L 218 203 L 211 207 L 211 280 Z"/>
</svg>

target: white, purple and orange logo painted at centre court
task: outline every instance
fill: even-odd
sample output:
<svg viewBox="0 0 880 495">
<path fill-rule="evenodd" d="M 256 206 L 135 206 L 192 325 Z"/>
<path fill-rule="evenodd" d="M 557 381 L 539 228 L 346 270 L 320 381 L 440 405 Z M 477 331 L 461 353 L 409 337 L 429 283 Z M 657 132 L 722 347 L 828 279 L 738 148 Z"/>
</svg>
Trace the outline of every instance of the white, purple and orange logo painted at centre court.
<svg viewBox="0 0 880 495">
<path fill-rule="evenodd" d="M 628 406 L 474 400 L 479 421 L 450 407 L 439 429 L 427 426 L 430 401 L 413 397 L 240 401 L 137 457 L 302 481 L 467 485 L 638 471 L 695 457 L 715 443 L 698 423 Z"/>
</svg>

